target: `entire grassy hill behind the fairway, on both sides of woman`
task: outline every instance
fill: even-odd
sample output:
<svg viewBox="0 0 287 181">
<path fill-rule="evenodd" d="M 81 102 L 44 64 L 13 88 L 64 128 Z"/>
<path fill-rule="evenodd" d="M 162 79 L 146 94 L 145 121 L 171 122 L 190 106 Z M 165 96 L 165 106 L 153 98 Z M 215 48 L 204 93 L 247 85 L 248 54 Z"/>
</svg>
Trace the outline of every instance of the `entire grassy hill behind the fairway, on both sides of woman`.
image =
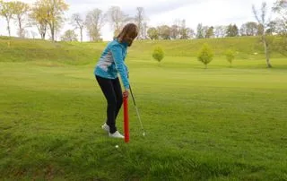
<svg viewBox="0 0 287 181">
<path fill-rule="evenodd" d="M 163 47 L 166 56 L 196 57 L 204 43 L 213 47 L 216 57 L 224 56 L 227 49 L 236 51 L 237 59 L 264 58 L 263 47 L 257 37 L 193 40 L 143 40 L 130 48 L 130 59 L 152 59 L 152 49 Z M 52 43 L 39 39 L 14 39 L 0 37 L 0 61 L 23 62 L 33 60 L 57 61 L 70 65 L 85 65 L 94 62 L 107 42 Z M 272 57 L 281 57 L 273 51 Z"/>
</svg>

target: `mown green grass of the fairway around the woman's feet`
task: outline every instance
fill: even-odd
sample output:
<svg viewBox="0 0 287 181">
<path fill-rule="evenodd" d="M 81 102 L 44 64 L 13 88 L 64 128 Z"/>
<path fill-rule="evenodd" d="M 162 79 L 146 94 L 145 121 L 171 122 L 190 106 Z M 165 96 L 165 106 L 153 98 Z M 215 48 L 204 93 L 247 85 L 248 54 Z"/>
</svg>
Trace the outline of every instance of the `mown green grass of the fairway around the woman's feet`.
<svg viewBox="0 0 287 181">
<path fill-rule="evenodd" d="M 100 128 L 96 60 L 0 63 L 0 179 L 287 180 L 286 58 L 230 68 L 217 56 L 205 70 L 187 56 L 158 65 L 139 48 L 127 65 L 146 137 L 130 100 L 128 144 Z"/>
</svg>

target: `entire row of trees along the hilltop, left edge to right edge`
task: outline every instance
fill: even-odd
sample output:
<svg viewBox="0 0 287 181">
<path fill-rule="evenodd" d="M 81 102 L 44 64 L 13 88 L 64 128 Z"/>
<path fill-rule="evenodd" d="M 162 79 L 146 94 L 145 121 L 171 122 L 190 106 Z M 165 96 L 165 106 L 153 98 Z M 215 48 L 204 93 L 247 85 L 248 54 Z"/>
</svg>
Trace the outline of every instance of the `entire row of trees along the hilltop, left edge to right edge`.
<svg viewBox="0 0 287 181">
<path fill-rule="evenodd" d="M 277 0 L 274 3 L 273 12 L 279 14 L 279 16 L 273 21 L 259 20 L 260 17 L 253 7 L 257 22 L 246 22 L 241 27 L 236 24 L 205 26 L 199 23 L 196 30 L 188 28 L 186 20 L 175 20 L 171 26 L 149 27 L 148 18 L 143 7 L 136 7 L 135 16 L 123 12 L 118 6 L 111 6 L 107 12 L 95 8 L 86 14 L 74 13 L 67 21 L 64 13 L 68 11 L 69 5 L 65 3 L 65 0 L 38 0 L 34 4 L 0 0 L 0 15 L 7 23 L 9 36 L 11 36 L 11 22 L 14 20 L 18 26 L 17 34 L 22 38 L 25 37 L 27 27 L 36 27 L 41 39 L 46 39 L 48 34 L 51 40 L 55 40 L 57 31 L 63 27 L 65 22 L 69 22 L 74 29 L 66 30 L 62 40 L 78 40 L 79 34 L 80 40 L 83 41 L 83 30 L 86 30 L 91 41 L 98 41 L 101 40 L 100 30 L 107 22 L 114 30 L 115 35 L 127 22 L 134 22 L 139 27 L 138 39 L 214 39 L 286 34 L 286 4 L 286 0 Z M 266 11 L 266 6 L 264 8 Z M 262 12 L 261 15 L 265 16 L 266 12 Z M 34 36 L 36 36 L 36 32 L 33 33 Z"/>
</svg>

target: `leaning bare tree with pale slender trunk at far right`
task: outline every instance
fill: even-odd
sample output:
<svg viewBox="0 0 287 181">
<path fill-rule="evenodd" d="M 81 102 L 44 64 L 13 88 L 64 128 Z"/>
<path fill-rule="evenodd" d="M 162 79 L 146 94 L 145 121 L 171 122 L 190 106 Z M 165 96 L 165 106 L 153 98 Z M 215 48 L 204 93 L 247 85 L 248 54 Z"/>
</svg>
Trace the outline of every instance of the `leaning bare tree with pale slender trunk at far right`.
<svg viewBox="0 0 287 181">
<path fill-rule="evenodd" d="M 269 46 L 270 43 L 267 41 L 266 39 L 266 35 L 265 35 L 265 30 L 266 27 L 268 25 L 269 22 L 266 21 L 266 13 L 267 13 L 267 7 L 266 7 L 266 3 L 263 2 L 261 5 L 261 12 L 260 14 L 258 14 L 257 9 L 255 7 L 255 5 L 252 5 L 252 10 L 254 13 L 255 18 L 257 19 L 257 22 L 259 24 L 262 24 L 262 28 L 263 28 L 263 34 L 261 36 L 264 48 L 265 48 L 265 59 L 266 59 L 266 64 L 268 68 L 272 68 L 272 65 L 270 63 L 270 56 L 269 56 Z"/>
</svg>

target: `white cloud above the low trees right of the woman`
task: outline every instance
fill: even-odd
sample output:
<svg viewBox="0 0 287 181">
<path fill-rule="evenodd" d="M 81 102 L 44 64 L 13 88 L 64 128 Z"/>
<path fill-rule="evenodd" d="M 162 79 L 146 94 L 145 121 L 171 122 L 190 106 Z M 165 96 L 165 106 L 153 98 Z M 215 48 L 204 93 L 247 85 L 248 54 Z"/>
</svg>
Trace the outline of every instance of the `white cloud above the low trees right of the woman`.
<svg viewBox="0 0 287 181">
<path fill-rule="evenodd" d="M 267 0 L 272 6 L 274 0 Z M 152 26 L 169 24 L 176 19 L 185 19 L 187 26 L 196 29 L 198 23 L 208 26 L 228 25 L 236 23 L 239 26 L 244 22 L 255 22 L 251 6 L 260 6 L 261 0 L 216 0 L 201 1 L 197 4 L 186 4 L 176 10 L 151 16 Z"/>
</svg>

